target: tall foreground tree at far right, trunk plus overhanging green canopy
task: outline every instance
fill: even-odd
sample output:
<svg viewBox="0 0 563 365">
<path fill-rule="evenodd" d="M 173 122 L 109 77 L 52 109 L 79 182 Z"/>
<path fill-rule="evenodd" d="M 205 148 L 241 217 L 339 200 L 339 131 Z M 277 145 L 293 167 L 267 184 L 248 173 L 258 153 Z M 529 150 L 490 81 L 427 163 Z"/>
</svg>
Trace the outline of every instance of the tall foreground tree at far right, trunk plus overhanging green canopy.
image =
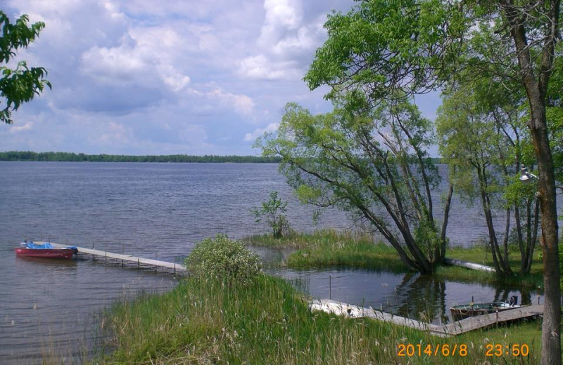
<svg viewBox="0 0 563 365">
<path fill-rule="evenodd" d="M 508 61 L 526 94 L 528 128 L 538 164 L 545 315 L 542 363 L 561 364 L 559 255 L 555 165 L 546 117 L 548 88 L 560 58 L 560 0 L 365 0 L 347 14 L 329 16 L 329 39 L 305 77 L 327 85 L 327 98 L 346 92 L 350 105 L 369 108 L 393 97 L 424 93 L 469 69 L 476 77 L 491 63 Z M 483 27 L 497 46 L 468 42 Z M 493 43 L 488 43 L 493 44 Z M 500 45 L 500 47 L 498 47 Z"/>
</svg>

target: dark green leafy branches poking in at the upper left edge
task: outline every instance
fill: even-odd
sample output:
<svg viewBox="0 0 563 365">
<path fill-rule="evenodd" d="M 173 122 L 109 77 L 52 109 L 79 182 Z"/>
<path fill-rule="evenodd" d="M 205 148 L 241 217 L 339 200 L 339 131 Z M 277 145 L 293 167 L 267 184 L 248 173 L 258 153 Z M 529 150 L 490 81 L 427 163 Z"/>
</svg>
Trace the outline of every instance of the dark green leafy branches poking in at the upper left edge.
<svg viewBox="0 0 563 365">
<path fill-rule="evenodd" d="M 51 88 L 51 83 L 44 79 L 47 72 L 43 67 L 28 67 L 25 61 L 18 62 L 14 69 L 6 66 L 15 57 L 15 51 L 27 48 L 45 27 L 44 22 L 28 25 L 28 21 L 27 15 L 22 15 L 12 24 L 8 16 L 0 11 L 0 65 L 4 64 L 0 66 L 0 104 L 5 104 L 0 110 L 0 121 L 6 124 L 13 122 L 13 110 L 18 110 L 23 102 L 29 102 L 42 93 L 45 86 Z"/>
</svg>

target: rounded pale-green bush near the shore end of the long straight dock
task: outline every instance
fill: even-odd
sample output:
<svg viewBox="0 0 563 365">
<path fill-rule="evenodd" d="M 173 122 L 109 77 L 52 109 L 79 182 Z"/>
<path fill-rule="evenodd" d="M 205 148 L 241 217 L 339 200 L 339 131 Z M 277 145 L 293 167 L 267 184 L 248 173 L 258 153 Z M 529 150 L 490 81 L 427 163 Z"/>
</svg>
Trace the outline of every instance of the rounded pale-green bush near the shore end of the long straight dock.
<svg viewBox="0 0 563 365">
<path fill-rule="evenodd" d="M 196 277 L 220 277 L 248 284 L 260 272 L 258 255 L 248 251 L 242 241 L 217 234 L 196 244 L 186 258 L 186 267 Z"/>
</svg>

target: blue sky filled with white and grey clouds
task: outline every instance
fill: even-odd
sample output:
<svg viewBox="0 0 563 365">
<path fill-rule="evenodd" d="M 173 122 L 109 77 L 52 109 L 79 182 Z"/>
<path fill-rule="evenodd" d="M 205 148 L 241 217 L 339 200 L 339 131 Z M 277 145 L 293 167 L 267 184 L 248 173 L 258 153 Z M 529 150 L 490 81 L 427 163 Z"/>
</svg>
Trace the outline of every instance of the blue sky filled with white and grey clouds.
<svg viewBox="0 0 563 365">
<path fill-rule="evenodd" d="M 53 85 L 0 125 L 0 150 L 257 155 L 287 102 L 329 112 L 303 81 L 332 10 L 352 0 L 0 0 L 46 23 L 13 62 Z M 434 119 L 436 95 L 417 98 Z"/>
</svg>

